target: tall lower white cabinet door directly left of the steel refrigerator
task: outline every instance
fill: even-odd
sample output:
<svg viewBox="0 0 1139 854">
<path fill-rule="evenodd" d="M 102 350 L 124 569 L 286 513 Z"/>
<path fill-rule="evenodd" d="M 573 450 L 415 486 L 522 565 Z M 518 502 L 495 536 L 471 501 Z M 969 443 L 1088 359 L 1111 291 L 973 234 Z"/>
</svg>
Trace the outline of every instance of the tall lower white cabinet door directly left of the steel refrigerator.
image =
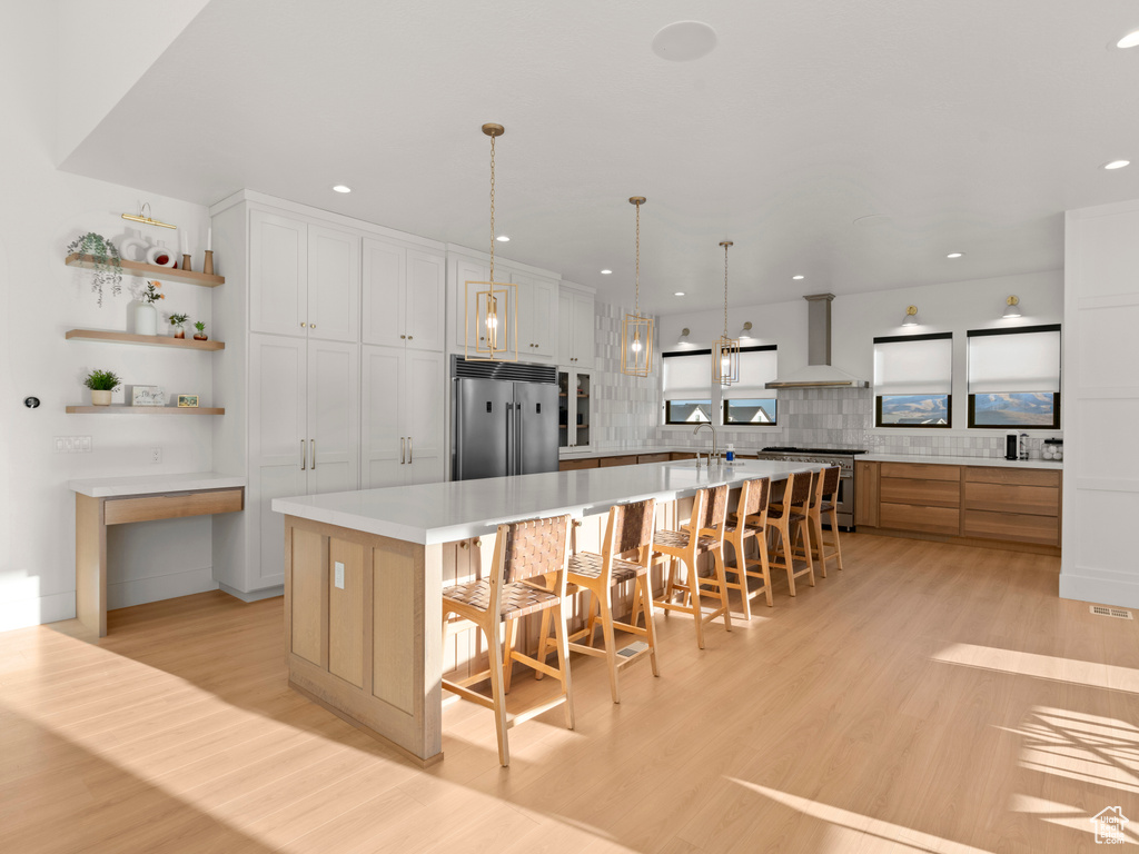
<svg viewBox="0 0 1139 854">
<path fill-rule="evenodd" d="M 408 351 L 403 380 L 405 483 L 439 483 L 446 475 L 446 375 L 442 353 Z"/>
</svg>

